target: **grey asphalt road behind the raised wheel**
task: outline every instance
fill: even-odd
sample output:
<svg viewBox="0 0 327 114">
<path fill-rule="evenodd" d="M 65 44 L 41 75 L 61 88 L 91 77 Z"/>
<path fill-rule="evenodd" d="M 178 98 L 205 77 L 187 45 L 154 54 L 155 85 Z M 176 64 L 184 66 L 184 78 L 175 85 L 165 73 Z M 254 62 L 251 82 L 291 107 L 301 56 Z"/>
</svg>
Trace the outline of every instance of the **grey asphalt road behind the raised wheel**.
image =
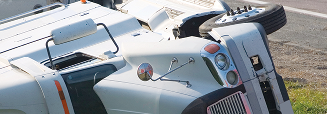
<svg viewBox="0 0 327 114">
<path fill-rule="evenodd" d="M 256 3 L 244 0 L 223 0 L 230 8 L 236 9 L 244 5 Z M 248 0 L 251 1 L 251 0 Z M 253 0 L 252 0 L 253 1 Z M 301 10 L 286 9 L 287 24 L 278 31 L 268 35 L 268 39 L 309 49 L 327 52 L 327 18 L 312 16 L 313 13 L 327 14 L 326 0 L 260 0 L 263 2 L 281 4 Z M 309 11 L 309 13 L 305 13 Z M 311 11 L 311 12 L 310 12 Z M 303 13 L 302 13 L 303 12 Z"/>
</svg>

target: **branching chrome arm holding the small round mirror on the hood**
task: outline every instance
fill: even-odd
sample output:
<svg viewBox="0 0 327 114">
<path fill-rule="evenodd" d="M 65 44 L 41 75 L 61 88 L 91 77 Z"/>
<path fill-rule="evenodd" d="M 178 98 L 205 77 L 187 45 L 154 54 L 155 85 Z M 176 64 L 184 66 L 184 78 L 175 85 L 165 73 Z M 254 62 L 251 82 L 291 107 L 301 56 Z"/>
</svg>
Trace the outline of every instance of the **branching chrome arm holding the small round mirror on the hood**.
<svg viewBox="0 0 327 114">
<path fill-rule="evenodd" d="M 172 69 L 172 70 L 170 70 L 171 67 L 172 67 L 172 64 L 173 64 L 173 63 L 177 63 L 177 58 L 173 58 L 173 59 L 172 59 L 172 61 L 171 61 L 171 65 L 170 65 L 170 68 L 169 68 L 169 71 L 168 71 L 167 73 L 163 74 L 162 76 L 158 77 L 157 79 L 152 79 L 152 77 L 150 76 L 149 71 L 145 71 L 145 72 L 148 73 L 148 75 L 149 75 L 149 77 L 150 77 L 150 79 L 151 79 L 152 81 L 157 81 L 157 80 L 160 79 L 161 81 L 186 82 L 186 85 L 185 85 L 185 86 L 186 86 L 186 87 L 191 87 L 191 84 L 190 84 L 189 81 L 170 80 L 170 79 L 162 79 L 162 78 L 163 78 L 164 76 L 170 74 L 171 72 L 176 71 L 177 69 L 179 69 L 179 68 L 185 66 L 186 64 L 193 64 L 193 63 L 194 63 L 194 59 L 193 59 L 193 58 L 190 58 L 186 63 L 184 63 L 184 64 L 182 64 L 182 65 L 180 65 L 180 66 L 178 66 L 178 67 L 176 67 L 176 68 L 174 68 L 174 69 Z"/>
</svg>

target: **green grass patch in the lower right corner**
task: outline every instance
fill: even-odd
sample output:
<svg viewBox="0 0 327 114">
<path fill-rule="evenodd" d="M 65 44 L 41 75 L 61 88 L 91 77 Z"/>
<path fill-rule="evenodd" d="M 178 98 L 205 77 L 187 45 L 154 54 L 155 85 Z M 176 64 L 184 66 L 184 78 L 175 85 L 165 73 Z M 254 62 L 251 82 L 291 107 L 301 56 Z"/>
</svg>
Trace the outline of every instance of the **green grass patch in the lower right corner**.
<svg viewBox="0 0 327 114">
<path fill-rule="evenodd" d="M 327 114 L 327 88 L 284 81 L 294 114 Z"/>
</svg>

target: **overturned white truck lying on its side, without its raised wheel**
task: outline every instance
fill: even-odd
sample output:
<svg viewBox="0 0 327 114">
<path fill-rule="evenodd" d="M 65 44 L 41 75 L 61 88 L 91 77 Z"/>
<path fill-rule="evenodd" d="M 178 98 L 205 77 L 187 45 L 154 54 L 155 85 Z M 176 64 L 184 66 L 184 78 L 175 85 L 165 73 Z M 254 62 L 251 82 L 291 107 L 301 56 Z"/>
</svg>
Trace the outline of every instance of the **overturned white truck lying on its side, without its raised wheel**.
<svg viewBox="0 0 327 114">
<path fill-rule="evenodd" d="M 169 41 L 86 1 L 0 34 L 0 114 L 293 114 L 259 23 Z"/>
</svg>

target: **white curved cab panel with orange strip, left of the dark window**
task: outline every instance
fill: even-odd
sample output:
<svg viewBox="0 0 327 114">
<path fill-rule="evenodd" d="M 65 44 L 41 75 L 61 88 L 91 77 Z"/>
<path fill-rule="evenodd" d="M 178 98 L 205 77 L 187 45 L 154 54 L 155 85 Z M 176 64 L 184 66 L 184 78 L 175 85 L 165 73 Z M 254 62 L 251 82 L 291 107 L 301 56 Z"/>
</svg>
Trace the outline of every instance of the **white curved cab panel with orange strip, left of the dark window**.
<svg viewBox="0 0 327 114">
<path fill-rule="evenodd" d="M 65 82 L 56 70 L 51 70 L 29 57 L 23 57 L 10 63 L 35 78 L 46 100 L 49 114 L 75 114 Z M 55 81 L 59 82 L 62 90 L 57 88 L 58 85 L 55 84 Z"/>
</svg>

